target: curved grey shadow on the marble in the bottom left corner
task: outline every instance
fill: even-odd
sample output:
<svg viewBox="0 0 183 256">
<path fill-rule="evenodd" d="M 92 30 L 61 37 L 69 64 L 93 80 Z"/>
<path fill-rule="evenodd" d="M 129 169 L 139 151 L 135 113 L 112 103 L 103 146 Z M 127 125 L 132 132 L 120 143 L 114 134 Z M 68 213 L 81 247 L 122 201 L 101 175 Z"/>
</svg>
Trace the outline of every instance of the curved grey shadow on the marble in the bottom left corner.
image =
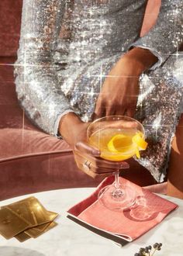
<svg viewBox="0 0 183 256">
<path fill-rule="evenodd" d="M 39 251 L 34 251 L 21 247 L 9 247 L 9 246 L 0 246 L 0 255 L 2 256 L 45 256 L 45 254 L 40 253 Z"/>
</svg>

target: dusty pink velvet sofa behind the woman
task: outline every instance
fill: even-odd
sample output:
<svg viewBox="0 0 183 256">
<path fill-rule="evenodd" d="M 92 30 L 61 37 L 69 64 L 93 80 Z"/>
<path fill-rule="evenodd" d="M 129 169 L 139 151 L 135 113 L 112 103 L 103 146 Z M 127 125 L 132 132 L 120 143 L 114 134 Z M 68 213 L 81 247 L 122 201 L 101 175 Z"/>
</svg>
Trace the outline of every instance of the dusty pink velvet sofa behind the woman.
<svg viewBox="0 0 183 256">
<path fill-rule="evenodd" d="M 156 20 L 160 0 L 149 0 L 141 35 Z M 0 200 L 30 192 L 95 186 L 79 171 L 63 140 L 43 133 L 26 118 L 16 99 L 13 63 L 19 47 L 22 0 L 0 1 Z M 138 183 L 140 172 L 134 181 Z M 128 173 L 124 172 L 127 177 Z M 150 185 L 143 174 L 144 185 Z"/>
</svg>

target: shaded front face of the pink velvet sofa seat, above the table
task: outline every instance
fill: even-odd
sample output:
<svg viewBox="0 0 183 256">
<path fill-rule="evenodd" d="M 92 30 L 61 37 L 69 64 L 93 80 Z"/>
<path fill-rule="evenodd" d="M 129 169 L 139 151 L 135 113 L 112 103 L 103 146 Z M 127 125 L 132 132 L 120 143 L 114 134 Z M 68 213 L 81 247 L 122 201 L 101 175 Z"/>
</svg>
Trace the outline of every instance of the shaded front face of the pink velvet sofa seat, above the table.
<svg viewBox="0 0 183 256">
<path fill-rule="evenodd" d="M 96 185 L 97 180 L 76 168 L 71 152 L 32 154 L 0 162 L 0 201 L 33 192 Z"/>
</svg>

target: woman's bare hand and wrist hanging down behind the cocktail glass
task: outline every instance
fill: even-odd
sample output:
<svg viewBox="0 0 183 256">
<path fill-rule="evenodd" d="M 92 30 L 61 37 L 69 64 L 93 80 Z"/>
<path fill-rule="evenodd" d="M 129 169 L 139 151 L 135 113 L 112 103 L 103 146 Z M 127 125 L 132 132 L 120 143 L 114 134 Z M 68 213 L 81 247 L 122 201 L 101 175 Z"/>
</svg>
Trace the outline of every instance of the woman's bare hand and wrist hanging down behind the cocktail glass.
<svg viewBox="0 0 183 256">
<path fill-rule="evenodd" d="M 112 115 L 133 117 L 140 74 L 156 61 L 154 54 L 142 48 L 133 48 L 121 57 L 105 78 L 93 118 Z"/>
</svg>

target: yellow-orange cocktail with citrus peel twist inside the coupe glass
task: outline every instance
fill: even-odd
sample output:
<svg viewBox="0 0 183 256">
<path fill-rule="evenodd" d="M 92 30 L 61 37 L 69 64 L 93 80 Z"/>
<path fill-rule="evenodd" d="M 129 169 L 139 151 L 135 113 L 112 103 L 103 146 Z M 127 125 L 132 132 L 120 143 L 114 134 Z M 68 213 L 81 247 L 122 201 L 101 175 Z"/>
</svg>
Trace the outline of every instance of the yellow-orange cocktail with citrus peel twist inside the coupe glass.
<svg viewBox="0 0 183 256">
<path fill-rule="evenodd" d="M 123 161 L 140 157 L 140 150 L 147 147 L 143 133 L 136 128 L 104 128 L 96 130 L 89 138 L 89 144 L 101 151 L 101 157 L 109 161 Z"/>
</svg>

